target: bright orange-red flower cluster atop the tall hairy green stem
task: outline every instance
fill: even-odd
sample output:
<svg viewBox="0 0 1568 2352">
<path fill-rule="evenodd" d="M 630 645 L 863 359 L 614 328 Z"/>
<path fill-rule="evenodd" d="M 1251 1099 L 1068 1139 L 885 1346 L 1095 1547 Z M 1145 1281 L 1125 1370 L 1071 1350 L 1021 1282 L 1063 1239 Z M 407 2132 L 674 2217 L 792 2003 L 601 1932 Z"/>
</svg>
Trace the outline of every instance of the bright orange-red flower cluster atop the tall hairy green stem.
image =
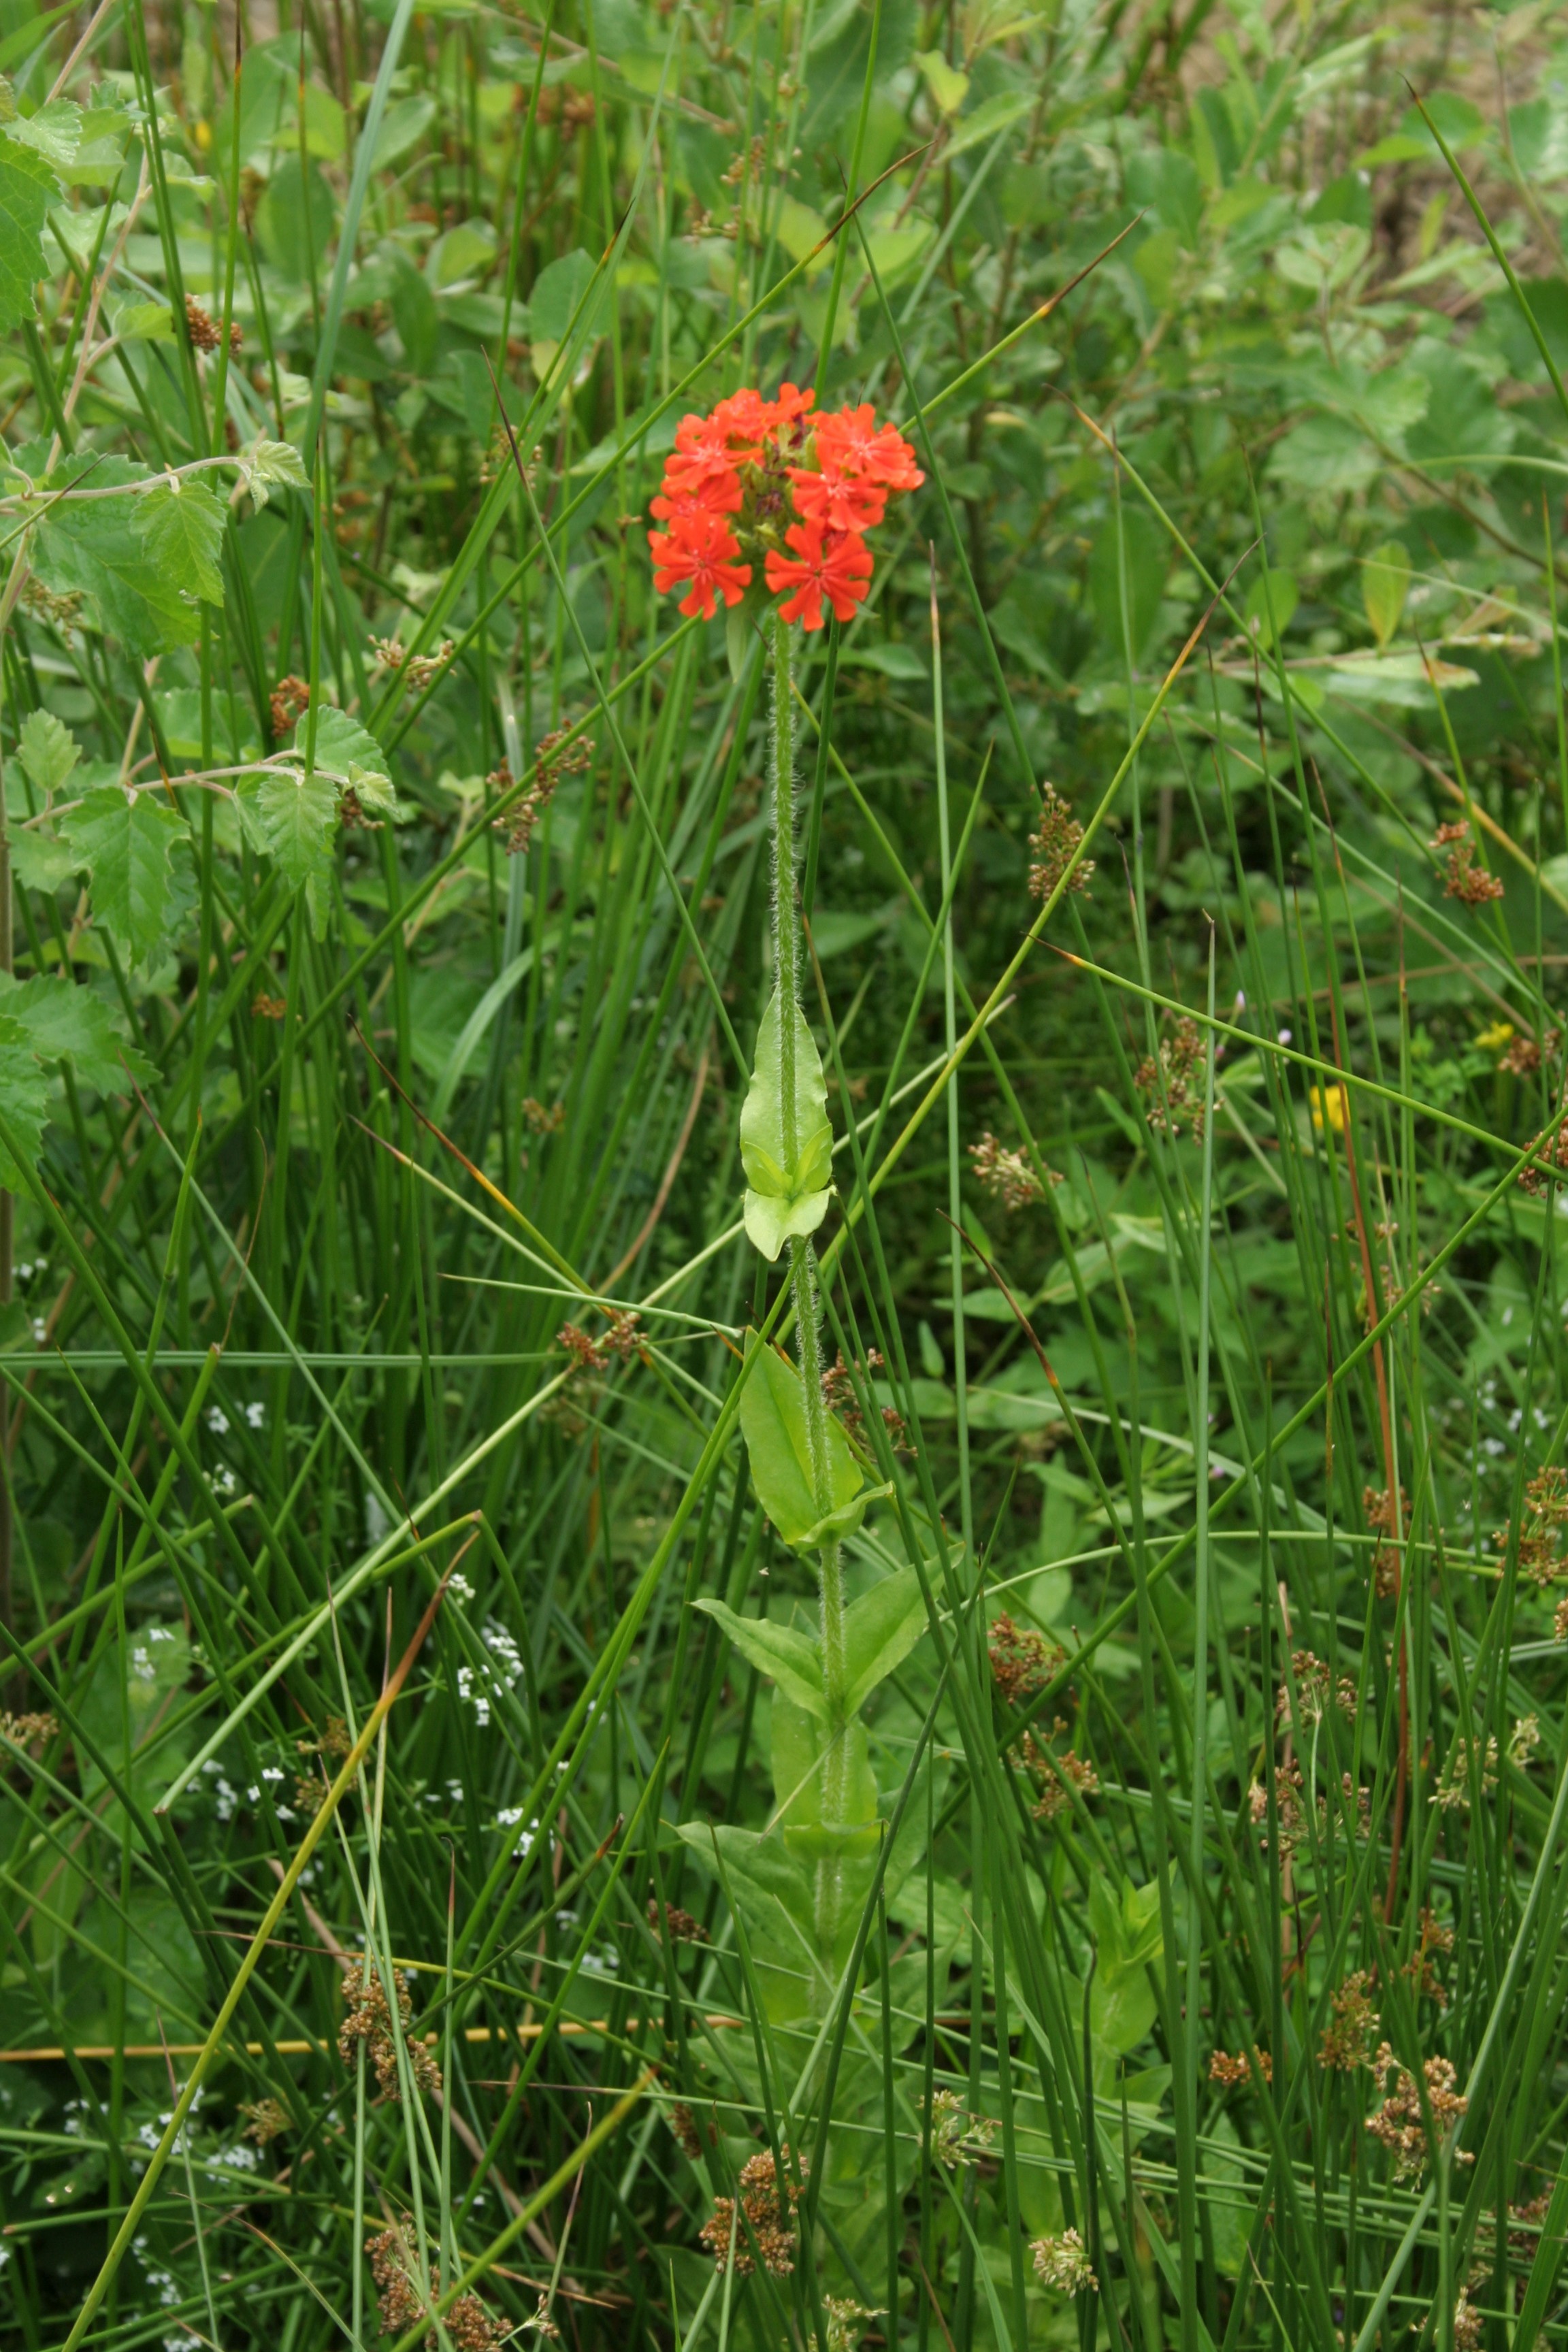
<svg viewBox="0 0 1568 2352">
<path fill-rule="evenodd" d="M 712 619 L 738 604 L 762 555 L 785 621 L 823 626 L 823 602 L 853 619 L 872 576 L 865 532 L 889 492 L 926 480 L 896 426 L 870 407 L 811 416 L 816 393 L 780 383 L 776 400 L 731 393 L 708 416 L 682 416 L 649 532 L 654 586 L 684 588 L 682 612 Z M 788 550 L 788 553 L 785 553 Z"/>
</svg>

